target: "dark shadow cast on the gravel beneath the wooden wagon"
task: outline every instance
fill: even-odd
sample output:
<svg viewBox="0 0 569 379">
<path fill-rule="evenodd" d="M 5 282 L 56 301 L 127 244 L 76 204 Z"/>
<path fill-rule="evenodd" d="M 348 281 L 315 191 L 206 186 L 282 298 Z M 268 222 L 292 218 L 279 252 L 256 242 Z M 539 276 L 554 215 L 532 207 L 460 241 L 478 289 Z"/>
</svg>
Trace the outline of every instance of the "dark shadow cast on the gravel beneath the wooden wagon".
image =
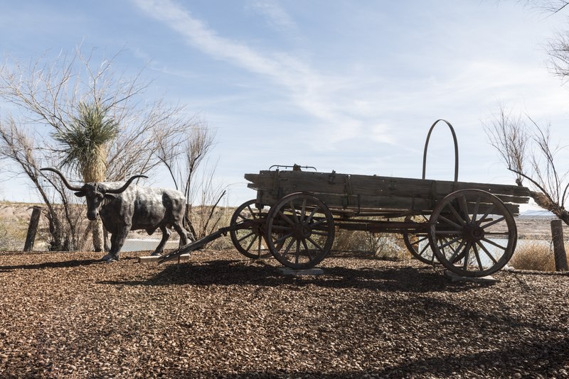
<svg viewBox="0 0 569 379">
<path fill-rule="evenodd" d="M 362 288 L 381 291 L 459 292 L 484 285 L 452 283 L 432 268 L 323 268 L 323 275 L 282 275 L 265 263 L 243 260 L 211 260 L 200 264 L 166 265 L 148 280 L 100 282 L 108 285 L 317 285 L 332 288 Z"/>
</svg>

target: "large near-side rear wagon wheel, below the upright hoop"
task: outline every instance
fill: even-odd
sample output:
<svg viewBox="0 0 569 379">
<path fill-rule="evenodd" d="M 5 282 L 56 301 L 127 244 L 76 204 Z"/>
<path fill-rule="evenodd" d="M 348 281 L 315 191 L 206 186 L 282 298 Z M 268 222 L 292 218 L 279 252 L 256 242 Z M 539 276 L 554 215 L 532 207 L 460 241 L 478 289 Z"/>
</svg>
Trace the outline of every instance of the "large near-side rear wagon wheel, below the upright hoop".
<svg viewBox="0 0 569 379">
<path fill-rule="evenodd" d="M 429 238 L 437 259 L 461 276 L 491 275 L 508 263 L 518 232 L 503 202 L 479 189 L 462 189 L 437 203 Z"/>
</svg>

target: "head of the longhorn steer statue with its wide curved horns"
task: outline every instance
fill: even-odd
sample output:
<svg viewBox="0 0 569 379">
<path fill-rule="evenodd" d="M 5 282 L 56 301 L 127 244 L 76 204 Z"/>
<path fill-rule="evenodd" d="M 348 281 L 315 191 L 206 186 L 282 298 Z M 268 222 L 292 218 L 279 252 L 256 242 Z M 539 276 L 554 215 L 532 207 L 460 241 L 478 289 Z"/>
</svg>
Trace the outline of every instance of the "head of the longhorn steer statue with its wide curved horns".
<svg viewBox="0 0 569 379">
<path fill-rule="evenodd" d="M 90 219 L 91 221 L 97 219 L 97 216 L 99 215 L 99 211 L 102 206 L 102 202 L 105 199 L 105 195 L 122 193 L 124 192 L 125 189 L 129 187 L 129 185 L 132 183 L 133 180 L 137 179 L 138 177 L 147 177 L 145 175 L 134 175 L 130 177 L 129 180 L 127 180 L 127 182 L 124 183 L 122 187 L 116 189 L 115 188 L 109 189 L 101 185 L 101 183 L 97 182 L 85 183 L 81 187 L 76 185 L 70 185 L 68 180 L 65 178 L 65 175 L 63 175 L 59 170 L 56 170 L 55 168 L 52 167 L 41 168 L 40 170 L 55 172 L 57 175 L 61 177 L 61 180 L 63 181 L 65 187 L 68 187 L 72 191 L 76 191 L 75 196 L 85 197 L 85 199 L 87 200 L 87 219 Z"/>
</svg>

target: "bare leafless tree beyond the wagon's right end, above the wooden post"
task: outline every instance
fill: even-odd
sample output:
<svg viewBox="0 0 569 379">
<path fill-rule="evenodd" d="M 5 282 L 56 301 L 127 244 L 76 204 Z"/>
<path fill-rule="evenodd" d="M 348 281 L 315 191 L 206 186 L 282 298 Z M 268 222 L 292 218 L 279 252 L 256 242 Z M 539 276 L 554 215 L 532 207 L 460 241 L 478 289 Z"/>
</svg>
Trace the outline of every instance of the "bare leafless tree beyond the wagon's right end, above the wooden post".
<svg viewBox="0 0 569 379">
<path fill-rule="evenodd" d="M 539 207 L 569 225 L 569 212 L 565 209 L 569 170 L 560 170 L 556 160 L 565 147 L 551 141 L 549 125 L 539 126 L 530 116 L 514 115 L 502 107 L 485 129 L 508 170 L 516 174 L 516 183 L 525 182 Z"/>
</svg>

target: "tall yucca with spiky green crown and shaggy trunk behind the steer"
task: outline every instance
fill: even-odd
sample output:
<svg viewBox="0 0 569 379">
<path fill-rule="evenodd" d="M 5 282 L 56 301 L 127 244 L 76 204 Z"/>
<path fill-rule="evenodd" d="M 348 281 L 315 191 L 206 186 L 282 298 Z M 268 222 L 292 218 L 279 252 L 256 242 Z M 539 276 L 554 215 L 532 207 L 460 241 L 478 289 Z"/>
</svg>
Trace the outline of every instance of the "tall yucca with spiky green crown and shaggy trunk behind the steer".
<svg viewBox="0 0 569 379">
<path fill-rule="evenodd" d="M 107 145 L 117 137 L 119 124 L 99 103 L 83 103 L 68 125 L 53 133 L 63 145 L 62 165 L 80 173 L 84 182 L 104 182 L 107 170 Z M 102 223 L 91 221 L 93 248 L 103 250 Z"/>
</svg>

